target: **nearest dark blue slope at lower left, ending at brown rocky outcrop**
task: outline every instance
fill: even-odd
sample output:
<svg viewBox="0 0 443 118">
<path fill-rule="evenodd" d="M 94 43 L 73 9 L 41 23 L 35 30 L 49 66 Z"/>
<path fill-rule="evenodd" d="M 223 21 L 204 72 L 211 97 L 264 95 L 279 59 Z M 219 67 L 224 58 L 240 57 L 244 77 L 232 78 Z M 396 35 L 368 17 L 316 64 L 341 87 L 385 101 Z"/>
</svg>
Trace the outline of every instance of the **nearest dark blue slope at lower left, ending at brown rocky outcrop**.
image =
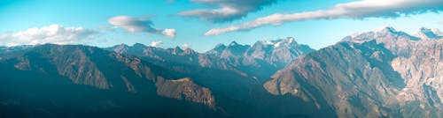
<svg viewBox="0 0 443 118">
<path fill-rule="evenodd" d="M 164 79 L 181 75 L 100 48 L 48 44 L 9 53 L 0 75 L 1 117 L 222 115 L 210 108 L 213 93 L 189 78 Z"/>
</svg>

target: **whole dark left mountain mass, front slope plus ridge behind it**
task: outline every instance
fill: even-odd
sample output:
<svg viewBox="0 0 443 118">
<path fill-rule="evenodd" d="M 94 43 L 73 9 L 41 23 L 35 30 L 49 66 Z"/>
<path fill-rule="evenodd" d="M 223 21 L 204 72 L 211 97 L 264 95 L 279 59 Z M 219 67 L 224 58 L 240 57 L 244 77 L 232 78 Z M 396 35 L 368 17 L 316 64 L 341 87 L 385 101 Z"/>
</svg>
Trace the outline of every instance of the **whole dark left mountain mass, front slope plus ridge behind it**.
<svg viewBox="0 0 443 118">
<path fill-rule="evenodd" d="M 3 48 L 0 56 L 2 117 L 273 116 L 257 112 L 281 98 L 246 74 L 243 63 L 190 48 L 13 48 Z M 252 100 L 258 97 L 268 99 Z M 270 99 L 269 105 L 257 104 Z"/>
</svg>

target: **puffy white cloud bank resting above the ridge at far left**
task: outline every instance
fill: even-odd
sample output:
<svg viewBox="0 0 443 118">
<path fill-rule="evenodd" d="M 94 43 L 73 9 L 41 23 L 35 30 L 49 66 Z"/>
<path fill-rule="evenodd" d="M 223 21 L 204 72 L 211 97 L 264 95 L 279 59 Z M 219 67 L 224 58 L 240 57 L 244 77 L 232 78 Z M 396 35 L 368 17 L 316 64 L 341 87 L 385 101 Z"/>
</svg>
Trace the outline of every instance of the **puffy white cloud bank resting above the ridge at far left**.
<svg viewBox="0 0 443 118">
<path fill-rule="evenodd" d="M 0 45 L 35 45 L 44 43 L 53 44 L 78 44 L 84 40 L 97 37 L 98 32 L 83 27 L 64 27 L 60 25 L 29 28 L 17 33 L 0 34 Z M 86 41 L 87 42 L 87 41 Z"/>
</svg>

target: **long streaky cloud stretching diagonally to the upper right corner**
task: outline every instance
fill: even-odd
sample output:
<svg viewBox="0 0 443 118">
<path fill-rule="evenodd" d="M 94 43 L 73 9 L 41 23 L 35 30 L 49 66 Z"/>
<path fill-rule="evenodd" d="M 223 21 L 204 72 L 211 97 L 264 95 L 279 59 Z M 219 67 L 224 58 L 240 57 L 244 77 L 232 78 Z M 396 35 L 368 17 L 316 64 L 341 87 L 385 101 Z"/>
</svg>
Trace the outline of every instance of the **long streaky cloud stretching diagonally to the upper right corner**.
<svg viewBox="0 0 443 118">
<path fill-rule="evenodd" d="M 333 8 L 324 11 L 305 11 L 292 14 L 276 13 L 237 26 L 214 28 L 206 32 L 205 35 L 245 31 L 267 25 L 279 26 L 285 22 L 307 19 L 398 18 L 427 11 L 443 11 L 443 0 L 360 0 L 346 4 L 336 4 Z"/>
</svg>

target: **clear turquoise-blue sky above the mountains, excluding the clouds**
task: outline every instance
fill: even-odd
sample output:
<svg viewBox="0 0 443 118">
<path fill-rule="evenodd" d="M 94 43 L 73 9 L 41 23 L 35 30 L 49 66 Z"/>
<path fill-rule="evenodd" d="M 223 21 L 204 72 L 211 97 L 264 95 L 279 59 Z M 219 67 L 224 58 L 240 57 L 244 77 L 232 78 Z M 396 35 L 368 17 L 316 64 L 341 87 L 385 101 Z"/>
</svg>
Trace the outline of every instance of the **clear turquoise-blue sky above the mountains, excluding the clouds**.
<svg viewBox="0 0 443 118">
<path fill-rule="evenodd" d="M 197 1 L 197 2 L 196 2 Z M 431 6 L 429 3 L 421 4 L 420 9 L 416 9 L 415 4 L 399 4 L 399 6 L 388 6 L 390 9 L 377 7 L 383 11 L 350 12 L 348 14 L 339 14 L 338 16 L 329 15 L 321 11 L 333 10 L 336 4 L 346 4 L 359 2 L 353 0 L 334 0 L 324 2 L 324 0 L 258 0 L 264 1 L 254 5 L 253 2 L 243 0 L 245 3 L 205 3 L 188 0 L 2 0 L 0 1 L 0 45 L 6 45 L 7 41 L 15 40 L 13 44 L 34 44 L 29 42 L 51 42 L 70 44 L 81 43 L 98 47 L 111 47 L 113 45 L 125 43 L 132 45 L 136 42 L 145 45 L 151 45 L 153 41 L 162 41 L 158 47 L 172 48 L 188 44 L 199 52 L 204 52 L 214 48 L 219 43 L 229 43 L 237 41 L 241 44 L 253 44 L 260 40 L 275 40 L 288 36 L 295 37 L 299 43 L 307 44 L 312 48 L 324 48 L 341 40 L 341 38 L 352 33 L 372 31 L 383 26 L 392 26 L 397 30 L 407 33 L 416 33 L 420 27 L 443 29 L 442 13 L 443 5 L 436 2 L 437 5 Z M 223 0 L 221 0 L 223 1 Z M 240 0 L 242 1 L 242 0 Z M 393 0 L 395 1 L 395 0 Z M 408 1 L 408 0 L 406 0 Z M 414 1 L 414 0 L 410 0 Z M 268 4 L 268 3 L 270 4 Z M 251 3 L 251 4 L 250 4 Z M 363 3 L 366 4 L 366 3 Z M 377 4 L 377 3 L 367 3 Z M 435 3 L 433 3 L 435 4 Z M 351 6 L 353 4 L 350 4 Z M 401 6 L 401 5 L 404 5 Z M 214 10 L 229 6 L 236 13 L 246 13 L 245 16 L 231 17 L 228 21 L 225 19 L 211 18 L 207 14 L 195 14 L 197 9 Z M 246 10 L 237 10 L 245 7 Z M 352 6 L 354 7 L 354 6 Z M 395 16 L 390 11 L 400 8 L 414 8 L 410 11 L 396 11 L 400 16 Z M 391 9 L 392 8 L 392 9 Z M 423 9 L 423 10 L 421 10 Z M 230 10 L 230 9 L 229 9 Z M 341 10 L 341 9 L 340 9 Z M 428 11 L 431 10 L 431 11 Z M 314 11 L 314 12 L 312 12 Z M 437 11 L 437 12 L 436 12 Z M 349 11 L 348 11 L 349 12 Z M 194 14 L 192 14 L 194 13 Z M 325 17 L 313 18 L 307 17 L 299 20 L 299 15 L 295 13 L 307 13 L 307 15 L 320 13 Z M 390 14 L 391 13 L 391 14 Z M 274 14 L 288 14 L 289 21 L 284 20 L 279 26 L 263 25 L 257 27 L 248 27 L 239 31 L 229 31 L 227 33 L 217 33 L 216 35 L 204 35 L 211 29 L 224 28 L 229 26 L 240 26 L 248 22 L 253 22 L 257 18 L 263 18 Z M 388 14 L 387 16 L 385 14 Z M 205 16 L 206 15 L 206 16 Z M 218 17 L 213 14 L 215 17 Z M 237 15 L 237 14 L 235 14 Z M 111 18 L 126 16 L 126 18 L 111 23 Z M 128 21 L 128 18 L 135 18 L 140 23 L 149 21 L 152 25 L 147 28 L 154 30 L 134 30 L 128 31 L 131 27 L 125 28 L 120 22 Z M 219 21 L 221 20 L 221 21 Z M 119 22 L 120 21 L 120 22 Z M 130 20 L 133 21 L 133 20 Z M 280 21 L 280 20 L 278 20 Z M 270 21 L 275 23 L 274 21 Z M 124 22 L 128 23 L 128 22 Z M 132 23 L 132 22 L 131 22 Z M 138 22 L 137 22 L 138 23 Z M 279 23 L 279 22 L 278 22 Z M 57 41 L 59 37 L 49 34 L 38 35 L 39 38 L 47 38 L 47 41 L 32 41 L 27 38 L 20 41 L 19 38 L 12 37 L 13 34 L 25 32 L 29 28 L 42 28 L 44 26 L 58 25 L 66 27 L 82 27 L 89 31 L 73 30 L 64 32 L 60 37 L 71 33 L 81 33 L 82 35 L 94 34 L 94 36 L 74 35 L 73 41 Z M 138 25 L 138 24 L 137 24 Z M 145 28 L 142 25 L 139 28 Z M 245 26 L 245 25 L 244 25 Z M 105 27 L 105 28 L 104 28 Z M 136 27 L 137 29 L 138 27 Z M 171 38 L 165 29 L 175 29 L 175 38 Z M 66 31 L 70 31 L 66 30 Z M 93 31 L 93 32 L 92 32 Z M 33 34 L 31 36 L 35 36 Z M 59 32 L 57 32 L 59 33 Z M 172 33 L 172 32 L 171 32 Z M 3 37 L 1 36 L 3 34 Z M 21 33 L 20 33 L 21 34 Z M 79 34 L 80 35 L 80 34 Z M 29 35 L 27 35 L 29 37 Z M 6 39 L 9 38 L 9 39 Z M 34 37 L 33 37 L 34 38 Z M 78 38 L 82 38 L 82 41 Z M 11 43 L 12 44 L 12 43 Z"/>
</svg>

